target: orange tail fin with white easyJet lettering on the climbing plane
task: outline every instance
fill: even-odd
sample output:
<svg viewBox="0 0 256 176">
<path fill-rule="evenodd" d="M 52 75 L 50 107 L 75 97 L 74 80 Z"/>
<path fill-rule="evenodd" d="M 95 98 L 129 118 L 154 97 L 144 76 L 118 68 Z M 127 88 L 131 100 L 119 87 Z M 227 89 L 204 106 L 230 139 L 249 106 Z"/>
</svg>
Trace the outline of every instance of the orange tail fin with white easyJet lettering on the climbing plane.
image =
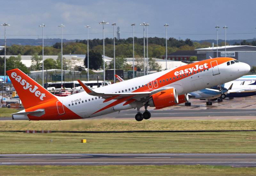
<svg viewBox="0 0 256 176">
<path fill-rule="evenodd" d="M 30 108 L 57 98 L 19 69 L 7 71 L 24 108 Z"/>
</svg>

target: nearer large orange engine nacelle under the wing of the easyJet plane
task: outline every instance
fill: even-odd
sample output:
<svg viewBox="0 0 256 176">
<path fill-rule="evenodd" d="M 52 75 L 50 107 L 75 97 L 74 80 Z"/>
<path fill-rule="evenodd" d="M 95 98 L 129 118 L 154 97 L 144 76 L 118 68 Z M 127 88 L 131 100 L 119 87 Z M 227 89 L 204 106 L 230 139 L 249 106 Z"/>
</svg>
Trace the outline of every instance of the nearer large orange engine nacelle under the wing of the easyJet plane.
<svg viewBox="0 0 256 176">
<path fill-rule="evenodd" d="M 175 88 L 167 89 L 152 95 L 152 98 L 145 104 L 146 106 L 162 109 L 179 103 Z"/>
</svg>

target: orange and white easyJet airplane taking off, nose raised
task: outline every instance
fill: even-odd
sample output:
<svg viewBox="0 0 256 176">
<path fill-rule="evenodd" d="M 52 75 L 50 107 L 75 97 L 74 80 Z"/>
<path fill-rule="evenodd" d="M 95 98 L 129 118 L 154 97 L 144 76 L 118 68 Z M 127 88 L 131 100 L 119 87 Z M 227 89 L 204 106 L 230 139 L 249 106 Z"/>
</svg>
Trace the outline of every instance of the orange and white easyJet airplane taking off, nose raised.
<svg viewBox="0 0 256 176">
<path fill-rule="evenodd" d="M 230 65 L 230 61 L 235 64 Z M 85 92 L 67 97 L 54 96 L 19 69 L 13 69 L 7 74 L 25 109 L 12 114 L 12 119 L 83 119 L 137 108 L 135 119 L 141 121 L 151 116 L 148 106 L 162 109 L 187 102 L 189 92 L 235 80 L 250 69 L 233 58 L 214 58 L 93 90 L 78 80 Z"/>
</svg>

